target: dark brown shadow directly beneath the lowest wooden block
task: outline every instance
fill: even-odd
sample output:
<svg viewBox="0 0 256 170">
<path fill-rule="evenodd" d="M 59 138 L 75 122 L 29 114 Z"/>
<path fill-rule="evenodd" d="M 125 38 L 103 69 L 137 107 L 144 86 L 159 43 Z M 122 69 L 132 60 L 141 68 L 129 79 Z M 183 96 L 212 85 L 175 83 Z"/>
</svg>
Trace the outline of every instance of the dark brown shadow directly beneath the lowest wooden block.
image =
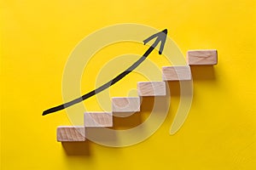
<svg viewBox="0 0 256 170">
<path fill-rule="evenodd" d="M 90 142 L 62 142 L 67 156 L 90 156 Z"/>
</svg>

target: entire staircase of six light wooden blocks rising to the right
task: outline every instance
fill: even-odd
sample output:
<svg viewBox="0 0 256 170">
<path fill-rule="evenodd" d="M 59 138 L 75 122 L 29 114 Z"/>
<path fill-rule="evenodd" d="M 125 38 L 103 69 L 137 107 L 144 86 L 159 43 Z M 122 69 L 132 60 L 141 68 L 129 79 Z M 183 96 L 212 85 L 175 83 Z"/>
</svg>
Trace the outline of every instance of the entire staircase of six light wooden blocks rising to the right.
<svg viewBox="0 0 256 170">
<path fill-rule="evenodd" d="M 85 112 L 84 127 L 61 126 L 57 127 L 57 141 L 79 142 L 86 138 L 86 127 L 113 127 L 113 113 L 127 113 L 140 111 L 141 98 L 146 96 L 165 96 L 166 81 L 191 80 L 189 65 L 217 65 L 217 50 L 189 50 L 187 53 L 188 65 L 163 66 L 163 82 L 137 82 L 139 97 L 114 97 L 112 98 L 112 112 Z"/>
</svg>

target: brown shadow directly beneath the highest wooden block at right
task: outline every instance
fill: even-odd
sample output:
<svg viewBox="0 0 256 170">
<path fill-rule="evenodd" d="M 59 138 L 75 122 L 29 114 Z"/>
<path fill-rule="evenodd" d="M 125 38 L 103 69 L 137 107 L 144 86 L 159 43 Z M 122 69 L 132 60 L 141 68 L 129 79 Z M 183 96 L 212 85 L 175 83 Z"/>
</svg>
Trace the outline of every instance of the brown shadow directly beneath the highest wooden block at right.
<svg viewBox="0 0 256 170">
<path fill-rule="evenodd" d="M 213 65 L 190 65 L 193 81 L 215 80 Z"/>
</svg>

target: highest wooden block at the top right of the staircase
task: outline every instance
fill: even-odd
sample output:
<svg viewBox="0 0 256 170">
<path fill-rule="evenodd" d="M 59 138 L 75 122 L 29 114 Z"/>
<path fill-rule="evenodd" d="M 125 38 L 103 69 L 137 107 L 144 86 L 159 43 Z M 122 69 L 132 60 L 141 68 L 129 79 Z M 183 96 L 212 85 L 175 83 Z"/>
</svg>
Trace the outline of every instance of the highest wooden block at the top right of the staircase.
<svg viewBox="0 0 256 170">
<path fill-rule="evenodd" d="M 189 50 L 187 54 L 187 61 L 189 65 L 217 65 L 217 50 Z"/>
</svg>

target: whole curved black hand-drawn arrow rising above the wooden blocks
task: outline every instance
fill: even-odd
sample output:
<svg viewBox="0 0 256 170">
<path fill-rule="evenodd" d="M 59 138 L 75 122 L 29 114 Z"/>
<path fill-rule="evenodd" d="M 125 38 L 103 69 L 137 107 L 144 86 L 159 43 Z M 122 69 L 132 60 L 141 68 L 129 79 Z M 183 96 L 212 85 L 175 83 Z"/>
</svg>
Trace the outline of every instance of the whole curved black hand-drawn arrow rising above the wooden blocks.
<svg viewBox="0 0 256 170">
<path fill-rule="evenodd" d="M 160 50 L 159 50 L 159 54 L 162 54 L 162 51 L 164 49 L 165 46 L 165 42 L 166 42 L 166 35 L 167 35 L 167 30 L 163 30 L 160 31 L 156 34 L 154 34 L 151 37 L 148 37 L 147 39 L 145 39 L 143 42 L 144 44 L 146 44 L 147 42 L 149 42 L 150 40 L 152 40 L 154 37 L 156 37 L 156 40 L 154 41 L 154 43 L 150 46 L 150 48 L 148 48 L 148 50 L 145 52 L 145 54 L 143 54 L 143 56 L 137 60 L 136 63 L 134 63 L 133 65 L 131 65 L 128 69 L 126 69 L 124 72 L 120 73 L 117 77 L 114 77 L 113 80 L 103 84 L 101 87 L 96 88 L 95 90 L 89 92 L 88 94 L 84 94 L 82 97 L 79 97 L 78 99 L 73 99 L 72 101 L 67 102 L 66 104 L 63 105 L 58 105 L 55 106 L 53 108 L 50 108 L 49 110 L 46 110 L 43 112 L 43 116 L 44 115 L 48 115 L 49 113 L 55 112 L 55 111 L 61 111 L 71 105 L 75 105 L 78 104 L 79 102 L 83 101 L 84 99 L 88 99 L 91 96 L 98 94 L 100 92 L 102 92 L 104 89 L 109 88 L 110 86 L 112 86 L 114 83 L 119 82 L 119 80 L 121 80 L 123 77 L 125 77 L 126 75 L 128 75 L 131 71 L 133 71 L 134 69 L 137 68 L 138 65 L 140 65 L 143 60 L 145 60 L 148 55 L 154 50 L 154 48 L 157 46 L 157 44 L 160 42 Z"/>
</svg>

